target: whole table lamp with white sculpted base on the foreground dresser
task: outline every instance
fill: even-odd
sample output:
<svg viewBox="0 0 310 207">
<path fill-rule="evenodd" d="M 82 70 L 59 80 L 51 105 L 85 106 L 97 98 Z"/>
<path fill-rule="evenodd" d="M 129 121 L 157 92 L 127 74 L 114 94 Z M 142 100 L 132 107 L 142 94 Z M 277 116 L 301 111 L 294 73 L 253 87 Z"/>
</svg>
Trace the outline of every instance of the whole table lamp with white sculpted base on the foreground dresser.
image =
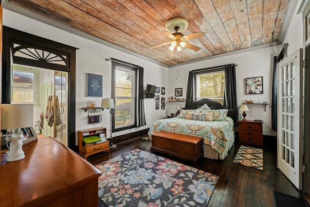
<svg viewBox="0 0 310 207">
<path fill-rule="evenodd" d="M 23 131 L 21 128 L 33 125 L 33 104 L 1 104 L 1 129 L 6 129 L 6 142 L 10 143 L 10 152 L 6 161 L 25 158 Z"/>
</svg>

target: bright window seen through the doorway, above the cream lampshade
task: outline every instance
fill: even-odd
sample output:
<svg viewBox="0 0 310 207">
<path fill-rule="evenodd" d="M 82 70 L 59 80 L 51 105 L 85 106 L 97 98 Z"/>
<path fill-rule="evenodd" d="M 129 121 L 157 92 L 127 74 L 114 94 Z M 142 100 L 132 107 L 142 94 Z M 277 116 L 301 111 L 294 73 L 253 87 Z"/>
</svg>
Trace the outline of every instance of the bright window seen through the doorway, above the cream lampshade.
<svg viewBox="0 0 310 207">
<path fill-rule="evenodd" d="M 39 70 L 14 64 L 12 70 L 12 103 L 40 104 Z M 36 87 L 38 86 L 38 87 Z"/>
</svg>

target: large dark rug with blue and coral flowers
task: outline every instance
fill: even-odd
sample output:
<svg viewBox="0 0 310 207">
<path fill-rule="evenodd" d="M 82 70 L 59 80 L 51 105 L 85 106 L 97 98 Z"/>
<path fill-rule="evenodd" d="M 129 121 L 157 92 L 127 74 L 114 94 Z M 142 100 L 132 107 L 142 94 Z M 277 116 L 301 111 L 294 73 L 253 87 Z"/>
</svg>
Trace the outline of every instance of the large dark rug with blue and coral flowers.
<svg viewBox="0 0 310 207">
<path fill-rule="evenodd" d="M 205 207 L 219 178 L 140 149 L 95 167 L 108 207 Z"/>
</svg>

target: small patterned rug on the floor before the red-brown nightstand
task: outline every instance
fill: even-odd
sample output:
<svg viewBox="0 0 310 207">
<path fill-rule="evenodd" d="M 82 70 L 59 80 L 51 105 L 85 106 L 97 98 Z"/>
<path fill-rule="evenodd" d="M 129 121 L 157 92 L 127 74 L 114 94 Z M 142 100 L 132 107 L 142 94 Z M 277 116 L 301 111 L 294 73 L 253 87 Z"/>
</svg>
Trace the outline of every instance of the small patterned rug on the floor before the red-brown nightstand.
<svg viewBox="0 0 310 207">
<path fill-rule="evenodd" d="M 241 145 L 233 162 L 263 170 L 263 149 Z"/>
</svg>

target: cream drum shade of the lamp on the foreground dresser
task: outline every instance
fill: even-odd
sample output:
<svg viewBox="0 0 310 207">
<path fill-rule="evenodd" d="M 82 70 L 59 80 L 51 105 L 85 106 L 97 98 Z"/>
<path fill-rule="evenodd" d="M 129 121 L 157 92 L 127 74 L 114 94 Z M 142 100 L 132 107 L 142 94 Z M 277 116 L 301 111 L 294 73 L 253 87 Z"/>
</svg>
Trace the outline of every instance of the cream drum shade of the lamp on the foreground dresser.
<svg viewBox="0 0 310 207">
<path fill-rule="evenodd" d="M 33 104 L 1 104 L 1 129 L 33 125 Z"/>
</svg>

